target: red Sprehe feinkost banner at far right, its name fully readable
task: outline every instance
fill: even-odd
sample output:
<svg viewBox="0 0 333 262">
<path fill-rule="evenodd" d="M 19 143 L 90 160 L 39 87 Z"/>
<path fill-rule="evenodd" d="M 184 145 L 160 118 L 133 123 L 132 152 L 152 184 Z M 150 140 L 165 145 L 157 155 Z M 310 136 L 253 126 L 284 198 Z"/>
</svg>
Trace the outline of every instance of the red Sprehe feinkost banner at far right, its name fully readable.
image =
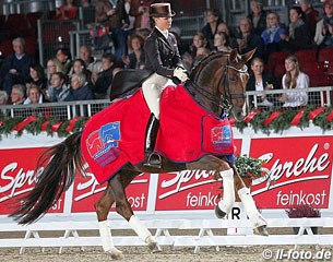
<svg viewBox="0 0 333 262">
<path fill-rule="evenodd" d="M 266 159 L 271 182 L 252 186 L 258 207 L 312 205 L 328 209 L 333 136 L 252 139 L 250 155 Z"/>
</svg>

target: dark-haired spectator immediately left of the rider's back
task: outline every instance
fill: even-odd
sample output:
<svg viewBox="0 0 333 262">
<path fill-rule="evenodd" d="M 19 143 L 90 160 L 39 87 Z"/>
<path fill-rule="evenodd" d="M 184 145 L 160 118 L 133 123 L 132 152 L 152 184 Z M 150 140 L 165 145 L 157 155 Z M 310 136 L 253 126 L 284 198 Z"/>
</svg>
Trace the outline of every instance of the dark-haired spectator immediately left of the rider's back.
<svg viewBox="0 0 333 262">
<path fill-rule="evenodd" d="M 143 50 L 144 39 L 141 36 L 132 35 L 129 47 L 132 52 L 122 57 L 122 62 L 127 69 L 144 69 L 145 55 Z"/>
</svg>

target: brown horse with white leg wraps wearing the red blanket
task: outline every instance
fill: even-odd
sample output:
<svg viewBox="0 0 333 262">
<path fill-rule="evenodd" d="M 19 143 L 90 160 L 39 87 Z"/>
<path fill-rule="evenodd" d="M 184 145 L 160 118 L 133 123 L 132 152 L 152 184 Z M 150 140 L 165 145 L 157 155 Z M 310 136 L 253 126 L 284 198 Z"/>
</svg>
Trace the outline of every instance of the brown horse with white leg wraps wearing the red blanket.
<svg viewBox="0 0 333 262">
<path fill-rule="evenodd" d="M 243 107 L 246 105 L 246 84 L 248 72 L 246 63 L 251 59 L 255 50 L 245 55 L 239 55 L 236 49 L 230 52 L 213 52 L 204 57 L 190 72 L 189 80 L 185 83 L 183 88 L 202 108 L 212 112 L 214 118 L 226 118 L 226 111 L 233 114 L 236 120 L 245 118 Z M 175 90 L 180 88 L 177 86 Z M 163 94 L 164 97 L 165 94 Z M 135 96 L 135 94 L 133 95 Z M 133 99 L 126 97 L 122 99 Z M 114 104 L 107 109 L 114 111 Z M 104 109 L 104 110 L 107 110 Z M 104 111 L 103 110 L 103 111 Z M 146 109 L 147 110 L 147 109 Z M 100 118 L 94 115 L 90 119 L 90 126 L 97 126 Z M 163 105 L 162 105 L 163 111 Z M 103 115 L 103 118 L 107 115 Z M 160 117 L 162 119 L 163 117 Z M 227 119 L 227 118 L 226 118 Z M 87 157 L 83 155 L 86 147 L 85 143 L 92 136 L 85 135 L 83 131 L 69 135 L 64 141 L 47 148 L 38 158 L 37 168 L 44 168 L 34 189 L 21 200 L 20 206 L 10 215 L 19 224 L 31 224 L 43 217 L 45 213 L 59 200 L 73 183 L 76 172 L 84 175 L 84 166 Z M 85 135 L 85 136 L 84 136 Z M 85 139 L 83 139 L 85 138 Z M 85 141 L 84 141 L 85 140 Z M 95 142 L 95 141 L 94 141 Z M 115 141 L 112 141 L 115 143 Z M 111 144 L 112 144 L 111 143 Z M 143 144 L 143 143 L 142 143 Z M 112 144 L 115 146 L 115 144 Z M 109 150 L 109 148 L 107 148 Z M 112 147 L 111 147 L 112 150 Z M 143 151 L 142 151 L 143 153 Z M 234 153 L 231 153 L 233 156 Z M 97 175 L 99 169 L 93 168 L 93 162 L 87 162 L 92 171 Z M 112 163 L 104 163 L 105 168 L 111 167 Z M 266 222 L 260 215 L 255 203 L 245 187 L 233 159 L 219 154 L 204 154 L 198 159 L 187 163 L 175 163 L 162 155 L 162 168 L 144 166 L 142 163 L 132 164 L 127 162 L 121 168 L 117 169 L 111 177 L 106 177 L 107 188 L 99 200 L 94 204 L 102 246 L 105 252 L 115 260 L 120 260 L 123 254 L 118 250 L 111 239 L 111 233 L 108 227 L 107 216 L 114 203 L 116 212 L 128 221 L 131 228 L 144 241 L 153 252 L 160 251 L 157 241 L 151 235 L 150 230 L 134 215 L 131 205 L 127 199 L 124 189 L 130 184 L 135 176 L 142 172 L 170 172 L 179 170 L 212 170 L 218 174 L 223 179 L 223 199 L 215 206 L 217 217 L 225 217 L 231 210 L 235 202 L 235 189 L 238 191 L 245 210 L 253 224 L 253 228 L 261 235 L 267 235 Z M 103 169 L 104 170 L 104 169 Z M 106 170 L 106 169 L 105 169 Z M 109 169 L 108 169 L 109 170 Z"/>
</svg>

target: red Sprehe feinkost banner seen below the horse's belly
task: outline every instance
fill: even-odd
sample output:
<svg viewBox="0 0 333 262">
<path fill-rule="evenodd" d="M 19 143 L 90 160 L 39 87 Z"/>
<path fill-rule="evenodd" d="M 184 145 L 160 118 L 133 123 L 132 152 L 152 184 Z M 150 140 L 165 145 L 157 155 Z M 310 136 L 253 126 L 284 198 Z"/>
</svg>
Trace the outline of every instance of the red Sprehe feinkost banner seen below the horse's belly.
<svg viewBox="0 0 333 262">
<path fill-rule="evenodd" d="M 236 154 L 241 140 L 235 140 Z M 214 171 L 183 170 L 159 174 L 156 211 L 212 210 L 218 203 L 222 182 L 214 178 Z"/>
</svg>

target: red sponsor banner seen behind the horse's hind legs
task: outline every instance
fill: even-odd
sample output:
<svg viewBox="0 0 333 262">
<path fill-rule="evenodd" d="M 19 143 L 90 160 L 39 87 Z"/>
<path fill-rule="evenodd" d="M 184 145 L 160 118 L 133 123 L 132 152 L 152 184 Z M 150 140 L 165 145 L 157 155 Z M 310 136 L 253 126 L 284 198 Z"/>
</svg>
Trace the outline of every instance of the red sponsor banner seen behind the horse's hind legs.
<svg viewBox="0 0 333 262">
<path fill-rule="evenodd" d="M 107 182 L 98 184 L 95 176 L 88 170 L 86 172 L 85 178 L 80 175 L 75 178 L 72 213 L 95 212 L 94 203 L 97 202 L 102 193 L 106 190 Z M 126 189 L 128 200 L 133 211 L 146 211 L 150 178 L 150 174 L 141 174 Z M 112 206 L 111 211 L 115 210 Z"/>
</svg>

